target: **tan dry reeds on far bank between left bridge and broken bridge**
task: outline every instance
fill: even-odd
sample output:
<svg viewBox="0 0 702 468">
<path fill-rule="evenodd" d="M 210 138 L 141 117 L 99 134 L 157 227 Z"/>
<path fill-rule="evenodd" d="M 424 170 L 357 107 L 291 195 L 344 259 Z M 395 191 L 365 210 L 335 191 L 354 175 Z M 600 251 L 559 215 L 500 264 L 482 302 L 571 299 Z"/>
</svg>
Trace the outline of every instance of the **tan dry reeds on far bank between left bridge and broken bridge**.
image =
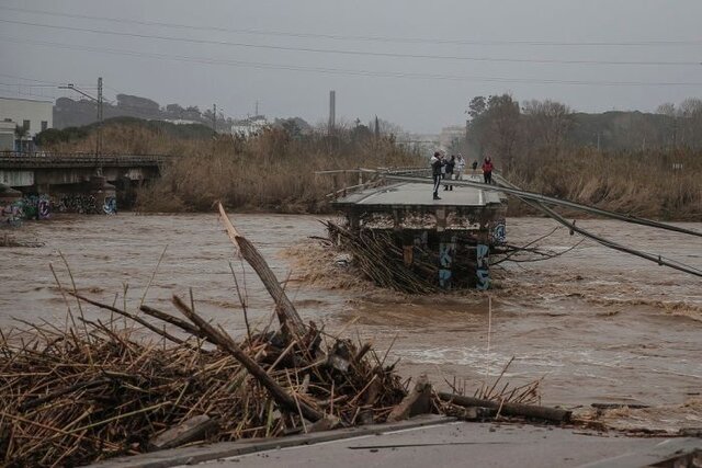
<svg viewBox="0 0 702 468">
<path fill-rule="evenodd" d="M 358 179 L 316 176 L 315 171 L 421 163 L 390 138 L 354 138 L 347 130 L 293 138 L 268 129 L 251 138 L 218 135 L 197 140 L 143 126 L 110 125 L 103 129 L 103 148 L 106 153 L 178 157 L 160 180 L 139 191 L 137 208 L 143 212 L 210 210 L 222 201 L 239 210 L 319 213 L 328 210 L 326 194 Z M 52 149 L 94 151 L 94 135 Z"/>
</svg>

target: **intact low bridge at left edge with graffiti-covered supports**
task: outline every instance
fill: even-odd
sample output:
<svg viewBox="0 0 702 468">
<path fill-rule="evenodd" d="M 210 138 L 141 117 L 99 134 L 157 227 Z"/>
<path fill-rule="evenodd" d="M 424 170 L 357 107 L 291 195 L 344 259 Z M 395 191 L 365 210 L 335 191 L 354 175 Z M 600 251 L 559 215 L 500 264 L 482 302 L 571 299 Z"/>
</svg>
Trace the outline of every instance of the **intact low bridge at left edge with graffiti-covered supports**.
<svg viewBox="0 0 702 468">
<path fill-rule="evenodd" d="M 159 178 L 171 160 L 160 155 L 1 151 L 0 207 L 15 218 L 41 219 L 49 210 L 116 213 L 117 204 L 128 207 L 136 189 Z"/>
</svg>

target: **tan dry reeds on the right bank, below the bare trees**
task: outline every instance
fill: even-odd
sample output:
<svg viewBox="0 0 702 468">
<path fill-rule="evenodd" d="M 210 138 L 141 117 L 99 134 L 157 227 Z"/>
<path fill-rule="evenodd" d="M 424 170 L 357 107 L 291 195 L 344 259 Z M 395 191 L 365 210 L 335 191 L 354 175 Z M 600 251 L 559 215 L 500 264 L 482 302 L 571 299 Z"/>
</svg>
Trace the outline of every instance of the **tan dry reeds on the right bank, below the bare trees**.
<svg viewBox="0 0 702 468">
<path fill-rule="evenodd" d="M 682 170 L 672 169 L 681 163 Z M 508 179 L 525 190 L 648 218 L 702 220 L 702 151 L 599 152 L 525 158 Z M 512 204 L 510 214 L 529 213 Z"/>
</svg>

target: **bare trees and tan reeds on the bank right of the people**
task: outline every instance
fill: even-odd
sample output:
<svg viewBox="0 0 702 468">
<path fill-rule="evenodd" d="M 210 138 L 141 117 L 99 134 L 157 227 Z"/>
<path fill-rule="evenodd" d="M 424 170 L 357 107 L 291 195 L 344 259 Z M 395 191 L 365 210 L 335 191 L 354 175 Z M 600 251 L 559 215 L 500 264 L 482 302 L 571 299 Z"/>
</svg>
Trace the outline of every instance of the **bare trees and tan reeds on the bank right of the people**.
<svg viewBox="0 0 702 468">
<path fill-rule="evenodd" d="M 639 217 L 702 220 L 702 101 L 656 113 L 575 113 L 509 94 L 468 104 L 467 138 L 451 150 L 490 156 L 509 181 L 548 196 Z M 511 203 L 510 215 L 531 214 Z"/>
</svg>

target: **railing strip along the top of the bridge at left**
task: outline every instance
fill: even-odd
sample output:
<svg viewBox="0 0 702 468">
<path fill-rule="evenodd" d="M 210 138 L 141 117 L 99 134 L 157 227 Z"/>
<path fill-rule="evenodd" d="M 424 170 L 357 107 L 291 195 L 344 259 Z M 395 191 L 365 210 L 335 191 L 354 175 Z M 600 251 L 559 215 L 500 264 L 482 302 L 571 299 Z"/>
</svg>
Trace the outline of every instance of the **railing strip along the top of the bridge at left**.
<svg viewBox="0 0 702 468">
<path fill-rule="evenodd" d="M 163 155 L 100 155 L 82 152 L 0 151 L 0 168 L 158 167 L 177 157 Z"/>
</svg>

